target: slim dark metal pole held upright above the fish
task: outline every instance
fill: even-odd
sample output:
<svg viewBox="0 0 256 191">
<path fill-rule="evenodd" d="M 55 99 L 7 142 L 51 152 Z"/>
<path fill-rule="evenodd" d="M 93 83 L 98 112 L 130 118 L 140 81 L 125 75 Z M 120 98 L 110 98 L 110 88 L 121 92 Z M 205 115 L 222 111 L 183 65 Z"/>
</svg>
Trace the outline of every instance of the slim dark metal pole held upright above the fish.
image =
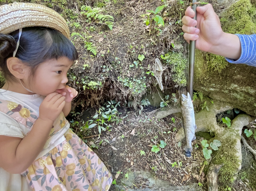
<svg viewBox="0 0 256 191">
<path fill-rule="evenodd" d="M 193 19 L 196 20 L 197 16 L 197 2 L 198 0 L 192 1 L 192 10 L 195 11 L 195 17 Z M 196 26 L 195 26 L 196 28 Z M 190 40 L 189 45 L 189 67 L 188 67 L 188 93 L 190 94 L 191 99 L 193 100 L 193 86 L 194 86 L 194 67 L 195 67 L 195 49 L 196 49 L 196 41 Z"/>
</svg>

